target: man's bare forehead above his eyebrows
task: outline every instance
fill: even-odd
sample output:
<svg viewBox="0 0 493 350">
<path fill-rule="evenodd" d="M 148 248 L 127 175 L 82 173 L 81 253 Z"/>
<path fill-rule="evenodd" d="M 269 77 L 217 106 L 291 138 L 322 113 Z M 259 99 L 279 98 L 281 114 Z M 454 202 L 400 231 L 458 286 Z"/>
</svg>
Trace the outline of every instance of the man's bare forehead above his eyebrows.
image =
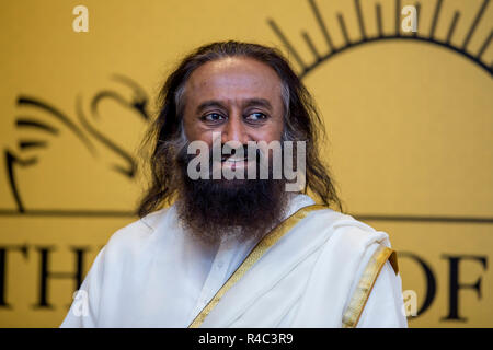
<svg viewBox="0 0 493 350">
<path fill-rule="evenodd" d="M 228 57 L 197 68 L 185 84 L 187 103 L 206 100 L 280 100 L 280 79 L 267 65 L 251 58 Z"/>
</svg>

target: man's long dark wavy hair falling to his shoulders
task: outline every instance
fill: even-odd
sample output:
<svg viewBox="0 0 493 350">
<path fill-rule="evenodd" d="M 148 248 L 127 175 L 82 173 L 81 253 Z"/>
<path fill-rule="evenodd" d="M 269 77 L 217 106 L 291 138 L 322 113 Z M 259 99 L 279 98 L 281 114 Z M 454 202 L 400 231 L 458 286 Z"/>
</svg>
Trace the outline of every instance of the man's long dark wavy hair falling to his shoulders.
<svg viewBox="0 0 493 350">
<path fill-rule="evenodd" d="M 329 167 L 319 156 L 318 141 L 324 137 L 324 128 L 313 98 L 289 67 L 279 50 L 257 44 L 239 42 L 213 43 L 197 48 L 186 56 L 168 77 L 158 95 L 159 114 L 142 141 L 142 149 L 150 145 L 149 188 L 140 200 L 137 213 L 148 213 L 170 205 L 176 195 L 176 148 L 183 147 L 182 109 L 183 90 L 192 72 L 202 65 L 226 57 L 246 57 L 272 67 L 283 82 L 285 102 L 285 132 L 287 139 L 306 141 L 306 187 L 321 203 L 342 209 Z"/>
</svg>

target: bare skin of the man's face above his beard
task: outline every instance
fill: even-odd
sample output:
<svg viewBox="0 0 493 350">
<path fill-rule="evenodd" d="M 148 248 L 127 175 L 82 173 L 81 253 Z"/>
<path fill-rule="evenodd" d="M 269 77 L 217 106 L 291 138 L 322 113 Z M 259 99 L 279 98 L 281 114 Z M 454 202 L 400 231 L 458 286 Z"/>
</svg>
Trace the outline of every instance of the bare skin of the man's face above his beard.
<svg viewBox="0 0 493 350">
<path fill-rule="evenodd" d="M 279 141 L 284 126 L 280 91 L 277 73 L 254 59 L 230 57 L 207 62 L 185 84 L 185 136 L 209 147 L 213 132 L 221 132 L 221 143 Z"/>
</svg>

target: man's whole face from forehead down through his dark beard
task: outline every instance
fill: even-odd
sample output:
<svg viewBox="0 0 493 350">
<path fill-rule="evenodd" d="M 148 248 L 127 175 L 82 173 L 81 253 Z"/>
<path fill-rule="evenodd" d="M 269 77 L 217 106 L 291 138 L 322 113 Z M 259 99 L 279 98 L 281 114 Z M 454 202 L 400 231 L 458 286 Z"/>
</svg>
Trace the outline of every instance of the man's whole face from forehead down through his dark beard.
<svg viewBox="0 0 493 350">
<path fill-rule="evenodd" d="M 248 147 L 249 141 L 280 141 L 280 79 L 272 68 L 250 58 L 207 62 L 185 84 L 183 118 L 187 141 L 206 142 L 209 150 L 213 132 L 220 132 L 222 144 L 234 141 L 233 148 Z M 222 170 L 249 167 L 245 158 L 233 155 L 221 158 Z M 177 159 L 183 182 L 176 201 L 179 217 L 204 242 L 217 243 L 230 234 L 241 240 L 259 237 L 284 215 L 284 179 L 192 179 L 187 175 L 192 155 L 183 149 Z"/>
</svg>

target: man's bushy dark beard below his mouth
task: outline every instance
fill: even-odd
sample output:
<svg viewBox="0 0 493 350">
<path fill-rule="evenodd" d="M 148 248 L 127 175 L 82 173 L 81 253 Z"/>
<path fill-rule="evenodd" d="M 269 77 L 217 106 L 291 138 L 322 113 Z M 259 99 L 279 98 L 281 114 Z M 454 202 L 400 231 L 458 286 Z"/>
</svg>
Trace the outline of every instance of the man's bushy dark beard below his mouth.
<svg viewBox="0 0 493 350">
<path fill-rule="evenodd" d="M 285 217 L 284 179 L 191 179 L 184 156 L 176 210 L 185 231 L 208 245 L 233 236 L 260 240 Z M 272 176 L 271 176 L 272 178 Z"/>
</svg>

